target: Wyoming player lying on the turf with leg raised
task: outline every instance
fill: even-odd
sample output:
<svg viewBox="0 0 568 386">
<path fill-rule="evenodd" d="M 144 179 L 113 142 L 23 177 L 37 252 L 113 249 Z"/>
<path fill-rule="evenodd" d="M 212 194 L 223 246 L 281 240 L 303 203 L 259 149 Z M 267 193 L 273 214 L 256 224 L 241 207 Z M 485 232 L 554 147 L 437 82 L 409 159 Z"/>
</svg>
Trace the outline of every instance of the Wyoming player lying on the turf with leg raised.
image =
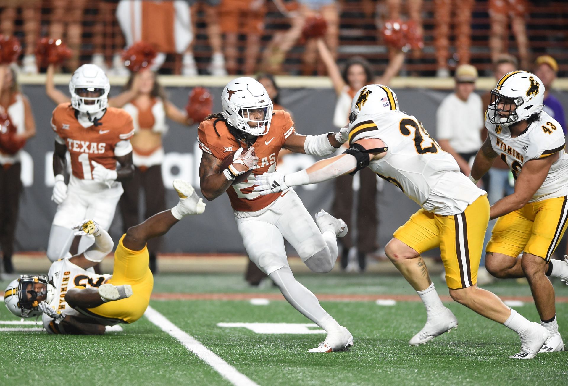
<svg viewBox="0 0 568 386">
<path fill-rule="evenodd" d="M 173 182 L 176 207 L 157 213 L 124 234 L 114 253 L 112 275 L 87 271 L 112 251 L 113 242 L 93 220 L 77 225 L 77 236 L 92 234 L 95 243 L 85 252 L 56 261 L 47 276 L 22 275 L 4 293 L 6 307 L 18 317 L 41 313 L 51 334 L 102 334 L 106 325 L 132 323 L 146 311 L 154 279 L 148 267 L 146 243 L 168 232 L 187 215 L 203 213 L 205 204 L 181 179 Z"/>
</svg>

